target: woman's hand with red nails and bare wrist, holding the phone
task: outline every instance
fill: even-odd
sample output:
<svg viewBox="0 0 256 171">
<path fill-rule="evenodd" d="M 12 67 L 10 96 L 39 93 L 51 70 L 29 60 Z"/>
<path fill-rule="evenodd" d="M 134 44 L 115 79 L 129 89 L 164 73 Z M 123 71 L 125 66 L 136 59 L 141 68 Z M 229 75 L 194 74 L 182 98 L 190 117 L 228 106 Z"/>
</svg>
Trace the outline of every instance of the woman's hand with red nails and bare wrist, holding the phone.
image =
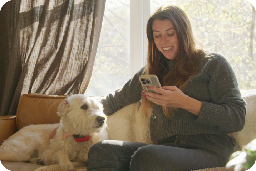
<svg viewBox="0 0 256 171">
<path fill-rule="evenodd" d="M 202 102 L 187 96 L 176 86 L 163 86 L 162 89 L 153 86 L 148 86 L 147 88 L 161 93 L 162 95 L 144 91 L 141 92 L 144 94 L 144 98 L 150 99 L 161 106 L 182 108 L 197 116 L 199 115 Z"/>
</svg>

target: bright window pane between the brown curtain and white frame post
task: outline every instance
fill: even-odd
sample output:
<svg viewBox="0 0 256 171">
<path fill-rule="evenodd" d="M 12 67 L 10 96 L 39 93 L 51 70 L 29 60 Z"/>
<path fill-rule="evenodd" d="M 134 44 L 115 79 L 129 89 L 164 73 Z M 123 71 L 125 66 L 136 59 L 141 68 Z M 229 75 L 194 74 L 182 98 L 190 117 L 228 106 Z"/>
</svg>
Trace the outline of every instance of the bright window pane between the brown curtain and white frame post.
<svg viewBox="0 0 256 171">
<path fill-rule="evenodd" d="M 104 96 L 130 78 L 130 1 L 107 0 L 88 96 Z"/>
</svg>

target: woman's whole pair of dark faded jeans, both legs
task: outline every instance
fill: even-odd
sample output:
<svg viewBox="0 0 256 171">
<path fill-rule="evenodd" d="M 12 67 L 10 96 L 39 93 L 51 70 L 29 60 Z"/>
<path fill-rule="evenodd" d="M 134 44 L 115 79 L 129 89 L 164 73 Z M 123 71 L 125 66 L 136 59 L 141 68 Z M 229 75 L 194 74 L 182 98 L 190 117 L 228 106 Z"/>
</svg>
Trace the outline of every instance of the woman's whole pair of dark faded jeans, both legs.
<svg viewBox="0 0 256 171">
<path fill-rule="evenodd" d="M 175 135 L 156 145 L 105 140 L 89 151 L 88 171 L 191 171 L 223 167 L 235 139 L 224 134 Z"/>
</svg>

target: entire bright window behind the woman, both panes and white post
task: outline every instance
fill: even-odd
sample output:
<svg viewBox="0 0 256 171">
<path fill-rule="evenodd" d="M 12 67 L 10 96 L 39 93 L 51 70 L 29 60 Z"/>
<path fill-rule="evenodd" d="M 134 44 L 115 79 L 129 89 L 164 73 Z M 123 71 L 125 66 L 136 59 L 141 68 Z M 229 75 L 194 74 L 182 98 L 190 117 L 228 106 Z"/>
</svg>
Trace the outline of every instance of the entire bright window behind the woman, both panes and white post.
<svg viewBox="0 0 256 171">
<path fill-rule="evenodd" d="M 206 50 L 222 53 L 240 89 L 256 89 L 255 8 L 245 0 L 107 0 L 92 78 L 85 95 L 103 96 L 121 88 L 147 56 L 146 24 L 161 4 L 187 13 Z M 130 22 L 131 21 L 131 22 Z"/>
</svg>

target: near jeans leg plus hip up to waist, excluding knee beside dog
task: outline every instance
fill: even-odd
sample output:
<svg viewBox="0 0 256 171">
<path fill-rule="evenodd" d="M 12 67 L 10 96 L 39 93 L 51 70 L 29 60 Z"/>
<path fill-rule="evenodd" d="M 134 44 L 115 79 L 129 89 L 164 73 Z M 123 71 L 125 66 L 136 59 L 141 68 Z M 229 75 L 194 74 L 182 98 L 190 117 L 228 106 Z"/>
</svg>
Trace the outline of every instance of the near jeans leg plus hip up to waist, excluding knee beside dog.
<svg viewBox="0 0 256 171">
<path fill-rule="evenodd" d="M 177 135 L 140 147 L 131 157 L 130 171 L 190 171 L 225 166 L 232 154 L 228 135 Z"/>
</svg>

